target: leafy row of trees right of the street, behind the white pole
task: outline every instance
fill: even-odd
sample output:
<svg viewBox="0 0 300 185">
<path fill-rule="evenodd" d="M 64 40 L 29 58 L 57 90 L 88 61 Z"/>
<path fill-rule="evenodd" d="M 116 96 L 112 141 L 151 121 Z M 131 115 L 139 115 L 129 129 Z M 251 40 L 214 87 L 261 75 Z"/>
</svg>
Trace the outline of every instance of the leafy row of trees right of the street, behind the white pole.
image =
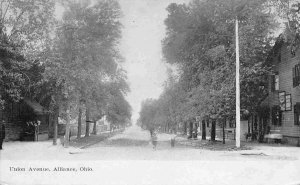
<svg viewBox="0 0 300 185">
<path fill-rule="evenodd" d="M 211 138 L 215 139 L 216 122 L 222 124 L 235 116 L 236 18 L 241 108 L 243 113 L 254 114 L 268 93 L 266 75 L 272 71 L 266 59 L 279 25 L 275 20 L 285 18 L 284 11 L 293 12 L 286 6 L 295 7 L 287 3 L 193 0 L 189 4 L 170 4 L 162 45 L 165 61 L 175 66 L 176 72 L 169 72 L 164 92 L 157 100 L 142 103 L 139 124 L 148 129 L 176 130 L 180 123 L 192 125 L 199 116 L 201 120 L 212 120 Z"/>
</svg>

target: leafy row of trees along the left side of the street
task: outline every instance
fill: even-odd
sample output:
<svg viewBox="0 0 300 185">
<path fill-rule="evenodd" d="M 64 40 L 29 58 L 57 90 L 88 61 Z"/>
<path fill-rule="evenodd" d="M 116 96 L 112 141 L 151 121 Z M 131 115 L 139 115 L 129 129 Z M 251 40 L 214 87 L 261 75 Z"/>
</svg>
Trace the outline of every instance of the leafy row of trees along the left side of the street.
<svg viewBox="0 0 300 185">
<path fill-rule="evenodd" d="M 64 9 L 61 19 L 56 6 Z M 2 102 L 37 100 L 66 121 L 66 138 L 72 119 L 78 138 L 84 116 L 85 136 L 91 122 L 96 133 L 95 121 L 104 115 L 113 125 L 130 121 L 117 1 L 2 0 L 2 17 L 1 47 L 8 53 L 0 63 Z"/>
</svg>

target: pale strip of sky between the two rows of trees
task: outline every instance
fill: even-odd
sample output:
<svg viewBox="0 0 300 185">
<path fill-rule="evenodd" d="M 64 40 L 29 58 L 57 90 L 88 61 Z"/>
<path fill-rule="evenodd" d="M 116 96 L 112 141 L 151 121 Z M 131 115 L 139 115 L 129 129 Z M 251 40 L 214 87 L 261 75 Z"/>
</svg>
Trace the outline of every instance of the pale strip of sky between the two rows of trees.
<svg viewBox="0 0 300 185">
<path fill-rule="evenodd" d="M 131 92 L 127 100 L 133 108 L 133 123 L 139 117 L 141 102 L 158 98 L 167 78 L 161 41 L 165 37 L 166 7 L 188 0 L 120 0 L 123 11 L 123 33 L 120 45 L 126 62 Z"/>
</svg>

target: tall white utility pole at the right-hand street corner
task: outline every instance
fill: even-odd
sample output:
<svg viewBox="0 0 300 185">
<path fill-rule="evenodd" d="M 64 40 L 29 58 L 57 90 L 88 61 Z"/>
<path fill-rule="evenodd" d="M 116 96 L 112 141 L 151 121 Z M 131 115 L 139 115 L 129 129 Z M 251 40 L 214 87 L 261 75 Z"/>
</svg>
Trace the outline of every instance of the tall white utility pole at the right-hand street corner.
<svg viewBox="0 0 300 185">
<path fill-rule="evenodd" d="M 240 112 L 240 56 L 239 56 L 239 23 L 238 23 L 238 18 L 236 16 L 235 18 L 235 52 L 236 52 L 236 66 L 235 66 L 235 76 L 236 76 L 236 81 L 235 81 L 235 88 L 236 88 L 236 100 L 235 100 L 235 118 L 236 118 L 236 121 L 235 121 L 235 129 L 236 129 L 236 132 L 235 132 L 235 141 L 236 141 L 236 147 L 237 148 L 240 148 L 241 147 L 241 130 L 240 130 L 240 127 L 241 127 L 241 112 Z"/>
</svg>

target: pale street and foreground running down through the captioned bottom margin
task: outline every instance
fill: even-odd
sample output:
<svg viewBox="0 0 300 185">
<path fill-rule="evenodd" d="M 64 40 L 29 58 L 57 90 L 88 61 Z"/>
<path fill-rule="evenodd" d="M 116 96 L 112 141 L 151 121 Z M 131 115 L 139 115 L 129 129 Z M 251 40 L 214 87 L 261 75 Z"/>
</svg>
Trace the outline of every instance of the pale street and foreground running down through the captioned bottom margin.
<svg viewBox="0 0 300 185">
<path fill-rule="evenodd" d="M 297 147 L 252 145 L 251 150 L 212 151 L 130 127 L 84 149 L 46 142 L 8 142 L 1 151 L 1 182 L 7 184 L 291 184 L 300 182 Z M 181 144 L 179 144 L 181 143 Z M 12 168 L 13 167 L 13 170 Z M 60 167 L 61 171 L 54 168 Z M 18 171 L 15 169 L 24 169 Z M 45 171 L 30 171 L 29 168 Z M 73 171 L 67 171 L 68 169 Z M 18 178 L 12 178 L 18 176 Z"/>
</svg>

